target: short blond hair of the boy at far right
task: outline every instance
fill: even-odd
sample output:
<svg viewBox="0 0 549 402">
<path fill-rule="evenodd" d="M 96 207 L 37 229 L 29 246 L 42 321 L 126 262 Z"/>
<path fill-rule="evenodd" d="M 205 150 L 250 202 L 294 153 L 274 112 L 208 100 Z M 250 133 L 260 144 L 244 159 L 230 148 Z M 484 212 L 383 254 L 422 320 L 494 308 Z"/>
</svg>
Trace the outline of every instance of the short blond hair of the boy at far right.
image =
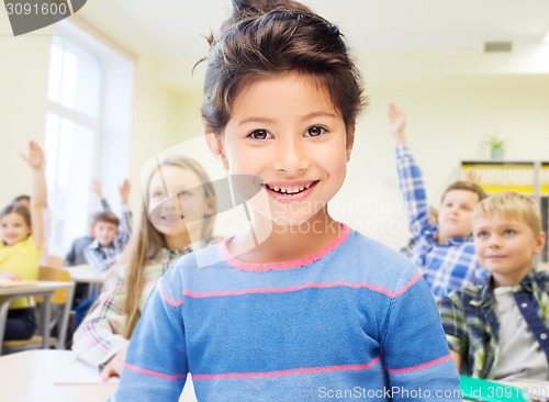
<svg viewBox="0 0 549 402">
<path fill-rule="evenodd" d="M 481 217 L 504 216 L 525 222 L 537 236 L 541 232 L 539 208 L 530 197 L 514 191 L 495 193 L 482 200 L 473 212 L 473 227 Z"/>
</svg>

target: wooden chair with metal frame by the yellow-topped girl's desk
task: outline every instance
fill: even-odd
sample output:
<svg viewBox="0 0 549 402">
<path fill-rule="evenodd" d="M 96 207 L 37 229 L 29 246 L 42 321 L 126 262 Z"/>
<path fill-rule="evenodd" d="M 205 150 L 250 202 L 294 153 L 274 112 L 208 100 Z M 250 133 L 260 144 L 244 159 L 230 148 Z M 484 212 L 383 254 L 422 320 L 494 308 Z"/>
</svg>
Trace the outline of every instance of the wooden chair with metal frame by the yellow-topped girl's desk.
<svg viewBox="0 0 549 402">
<path fill-rule="evenodd" d="M 70 273 L 63 268 L 40 267 L 38 280 L 52 280 L 58 282 L 70 282 Z M 59 289 L 52 294 L 52 312 L 49 323 L 43 323 L 38 320 L 38 325 L 47 325 L 49 333 L 52 330 L 57 330 L 57 337 L 49 337 L 49 344 L 55 345 L 56 349 L 65 349 L 65 340 L 67 336 L 67 327 L 70 316 L 70 305 L 72 302 L 72 291 L 70 289 Z M 35 297 L 37 304 L 44 303 L 44 297 Z M 41 309 L 42 310 L 42 309 Z M 43 338 L 40 335 L 34 335 L 30 339 L 4 340 L 2 346 L 13 350 L 36 349 L 43 345 Z"/>
</svg>

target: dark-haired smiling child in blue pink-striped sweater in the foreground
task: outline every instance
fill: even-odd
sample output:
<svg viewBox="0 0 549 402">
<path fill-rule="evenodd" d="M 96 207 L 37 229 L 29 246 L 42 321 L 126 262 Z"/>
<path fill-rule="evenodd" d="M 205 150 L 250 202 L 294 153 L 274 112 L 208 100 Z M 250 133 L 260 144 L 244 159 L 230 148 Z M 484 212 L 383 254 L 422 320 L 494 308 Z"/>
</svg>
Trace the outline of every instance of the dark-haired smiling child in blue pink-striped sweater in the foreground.
<svg viewBox="0 0 549 402">
<path fill-rule="evenodd" d="M 209 402 L 461 400 L 416 268 L 328 212 L 362 104 L 337 26 L 290 0 L 235 1 L 202 114 L 250 228 L 158 281 L 111 401 L 177 401 L 189 372 Z"/>
</svg>

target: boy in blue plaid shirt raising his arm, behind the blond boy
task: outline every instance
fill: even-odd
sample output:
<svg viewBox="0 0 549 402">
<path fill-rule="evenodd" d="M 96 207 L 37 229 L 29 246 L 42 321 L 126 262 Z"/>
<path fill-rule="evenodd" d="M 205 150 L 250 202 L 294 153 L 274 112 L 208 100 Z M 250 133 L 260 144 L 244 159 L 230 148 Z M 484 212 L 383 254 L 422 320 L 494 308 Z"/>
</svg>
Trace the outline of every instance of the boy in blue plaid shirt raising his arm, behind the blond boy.
<svg viewBox="0 0 549 402">
<path fill-rule="evenodd" d="M 448 292 L 477 283 L 485 276 L 474 257 L 471 216 L 486 194 L 473 182 L 456 181 L 442 194 L 438 222 L 434 222 L 422 171 L 407 146 L 406 118 L 402 110 L 390 104 L 389 121 L 396 142 L 400 188 L 414 237 L 408 257 L 438 301 Z"/>
</svg>

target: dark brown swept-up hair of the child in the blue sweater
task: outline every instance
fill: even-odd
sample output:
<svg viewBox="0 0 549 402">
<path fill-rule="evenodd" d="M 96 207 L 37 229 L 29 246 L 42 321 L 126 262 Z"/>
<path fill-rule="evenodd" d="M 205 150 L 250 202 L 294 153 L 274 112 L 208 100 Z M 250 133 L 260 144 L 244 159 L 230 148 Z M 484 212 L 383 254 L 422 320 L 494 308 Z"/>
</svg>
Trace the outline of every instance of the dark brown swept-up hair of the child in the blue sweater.
<svg viewBox="0 0 549 402">
<path fill-rule="evenodd" d="M 346 126 L 356 123 L 366 104 L 361 78 L 337 26 L 291 0 L 234 0 L 233 5 L 233 15 L 210 38 L 202 104 L 209 132 L 221 134 L 243 88 L 288 72 L 313 78 Z"/>
</svg>

